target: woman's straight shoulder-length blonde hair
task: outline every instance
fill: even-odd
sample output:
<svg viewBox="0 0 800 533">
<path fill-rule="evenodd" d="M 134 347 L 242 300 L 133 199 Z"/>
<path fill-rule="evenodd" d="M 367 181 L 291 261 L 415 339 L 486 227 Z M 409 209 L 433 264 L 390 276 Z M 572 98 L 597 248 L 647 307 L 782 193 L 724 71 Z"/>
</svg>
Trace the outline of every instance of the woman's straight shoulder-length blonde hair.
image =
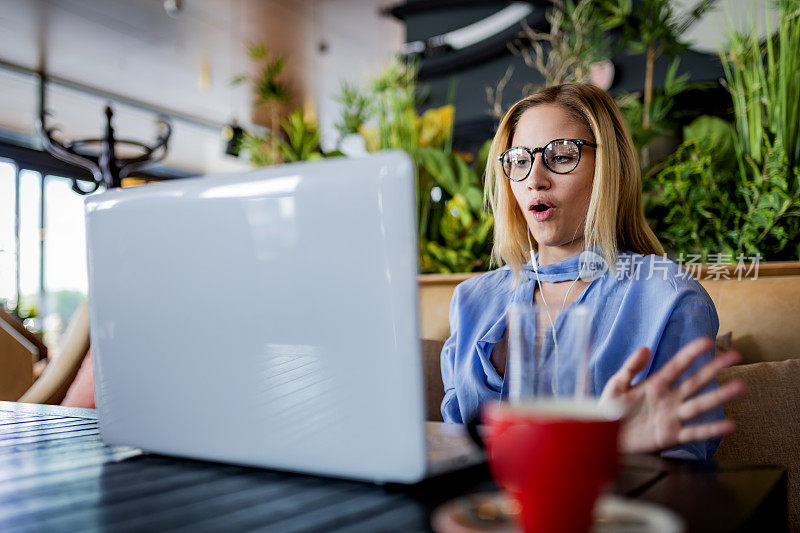
<svg viewBox="0 0 800 533">
<path fill-rule="evenodd" d="M 511 184 L 497 158 L 511 147 L 520 117 L 542 104 L 561 106 L 591 132 L 597 143 L 594 180 L 583 234 L 586 248 L 597 247 L 609 267 L 620 250 L 642 255 L 664 254 L 642 211 L 642 175 L 628 125 L 616 102 L 588 84 L 565 83 L 523 98 L 500 121 L 486 164 L 484 202 L 494 213 L 492 259 L 509 265 L 514 283 L 528 261 L 528 243 L 538 249 L 528 230 Z"/>
</svg>

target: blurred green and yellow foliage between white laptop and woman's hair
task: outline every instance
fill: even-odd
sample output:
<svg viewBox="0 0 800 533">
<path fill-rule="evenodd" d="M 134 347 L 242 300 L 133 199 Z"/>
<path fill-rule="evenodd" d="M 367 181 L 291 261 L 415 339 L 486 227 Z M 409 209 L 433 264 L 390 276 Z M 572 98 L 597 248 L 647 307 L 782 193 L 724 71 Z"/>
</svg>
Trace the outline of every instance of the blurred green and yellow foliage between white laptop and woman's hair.
<svg viewBox="0 0 800 533">
<path fill-rule="evenodd" d="M 488 143 L 475 158 L 452 150 L 455 108 L 418 115 L 417 67 L 395 60 L 364 90 L 343 86 L 341 133 L 357 130 L 368 151 L 405 150 L 417 182 L 420 267 L 425 273 L 487 270 L 492 217 L 483 209 Z M 361 107 L 359 102 L 367 102 Z"/>
</svg>

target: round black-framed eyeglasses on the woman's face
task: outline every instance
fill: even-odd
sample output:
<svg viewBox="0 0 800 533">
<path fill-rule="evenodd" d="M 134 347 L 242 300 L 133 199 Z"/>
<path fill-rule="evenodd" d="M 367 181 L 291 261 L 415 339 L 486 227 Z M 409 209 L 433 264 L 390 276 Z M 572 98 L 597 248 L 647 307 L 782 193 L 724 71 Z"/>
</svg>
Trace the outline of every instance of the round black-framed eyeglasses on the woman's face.
<svg viewBox="0 0 800 533">
<path fill-rule="evenodd" d="M 497 160 L 503 166 L 503 173 L 511 181 L 522 181 L 528 177 L 536 152 L 542 154 L 542 161 L 548 170 L 556 174 L 568 174 L 581 162 L 583 145 L 597 148 L 595 143 L 582 139 L 553 139 L 539 148 L 514 146 L 500 154 Z"/>
</svg>

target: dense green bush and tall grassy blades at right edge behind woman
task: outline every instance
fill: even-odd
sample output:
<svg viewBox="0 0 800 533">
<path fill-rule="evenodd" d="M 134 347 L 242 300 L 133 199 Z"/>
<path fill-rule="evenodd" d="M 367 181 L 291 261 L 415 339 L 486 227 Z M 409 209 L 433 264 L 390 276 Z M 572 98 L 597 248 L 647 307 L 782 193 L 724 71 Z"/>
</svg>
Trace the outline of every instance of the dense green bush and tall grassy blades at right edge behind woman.
<svg viewBox="0 0 800 533">
<path fill-rule="evenodd" d="M 800 257 L 800 2 L 775 34 L 731 32 L 721 53 L 734 124 L 701 117 L 652 182 L 645 205 L 674 253 Z"/>
</svg>

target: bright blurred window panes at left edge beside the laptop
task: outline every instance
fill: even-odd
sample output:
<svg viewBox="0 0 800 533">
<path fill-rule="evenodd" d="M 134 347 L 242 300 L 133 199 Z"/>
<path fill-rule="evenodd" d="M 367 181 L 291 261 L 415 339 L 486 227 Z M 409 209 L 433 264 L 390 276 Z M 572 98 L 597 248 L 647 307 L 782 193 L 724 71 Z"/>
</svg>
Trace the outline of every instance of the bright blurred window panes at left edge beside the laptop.
<svg viewBox="0 0 800 533">
<path fill-rule="evenodd" d="M 0 159 L 0 305 L 35 315 L 26 327 L 54 350 L 86 299 L 83 196 L 47 166 L 30 167 Z"/>
</svg>

